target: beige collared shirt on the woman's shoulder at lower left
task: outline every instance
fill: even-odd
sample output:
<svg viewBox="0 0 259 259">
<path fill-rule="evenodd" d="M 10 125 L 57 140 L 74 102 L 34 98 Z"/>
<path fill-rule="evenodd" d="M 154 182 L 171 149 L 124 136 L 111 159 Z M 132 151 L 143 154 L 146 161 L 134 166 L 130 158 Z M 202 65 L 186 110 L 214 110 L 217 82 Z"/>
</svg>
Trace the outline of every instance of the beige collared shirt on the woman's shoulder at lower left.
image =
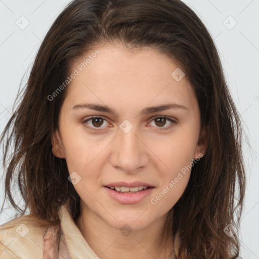
<svg viewBox="0 0 259 259">
<path fill-rule="evenodd" d="M 56 247 L 54 228 L 47 230 L 19 217 L 0 226 L 1 259 L 99 259 L 71 218 L 66 205 L 59 210 L 62 235 Z"/>
</svg>

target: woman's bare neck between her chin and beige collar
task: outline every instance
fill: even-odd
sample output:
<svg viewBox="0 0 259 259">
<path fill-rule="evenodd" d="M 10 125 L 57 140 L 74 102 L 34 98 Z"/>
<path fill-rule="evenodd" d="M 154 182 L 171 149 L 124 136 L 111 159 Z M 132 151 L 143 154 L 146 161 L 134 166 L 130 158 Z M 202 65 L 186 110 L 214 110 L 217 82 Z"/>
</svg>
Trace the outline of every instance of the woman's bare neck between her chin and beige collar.
<svg viewBox="0 0 259 259">
<path fill-rule="evenodd" d="M 114 255 L 125 259 L 168 259 L 173 253 L 172 237 L 165 238 L 162 233 L 168 213 L 144 229 L 130 231 L 126 227 L 113 228 L 86 206 L 80 205 L 80 211 L 75 224 L 101 259 L 112 259 Z"/>
</svg>

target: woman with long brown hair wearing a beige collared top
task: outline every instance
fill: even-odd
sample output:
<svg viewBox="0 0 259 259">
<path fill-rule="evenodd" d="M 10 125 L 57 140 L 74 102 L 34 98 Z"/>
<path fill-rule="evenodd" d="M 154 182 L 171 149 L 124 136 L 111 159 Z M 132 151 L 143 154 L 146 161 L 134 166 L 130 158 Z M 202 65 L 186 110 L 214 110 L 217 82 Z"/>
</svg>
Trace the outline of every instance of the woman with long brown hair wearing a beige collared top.
<svg viewBox="0 0 259 259">
<path fill-rule="evenodd" d="M 241 130 L 213 40 L 184 3 L 71 2 L 2 135 L 6 195 L 19 209 L 19 172 L 25 202 L 1 226 L 2 255 L 236 258 Z"/>
</svg>

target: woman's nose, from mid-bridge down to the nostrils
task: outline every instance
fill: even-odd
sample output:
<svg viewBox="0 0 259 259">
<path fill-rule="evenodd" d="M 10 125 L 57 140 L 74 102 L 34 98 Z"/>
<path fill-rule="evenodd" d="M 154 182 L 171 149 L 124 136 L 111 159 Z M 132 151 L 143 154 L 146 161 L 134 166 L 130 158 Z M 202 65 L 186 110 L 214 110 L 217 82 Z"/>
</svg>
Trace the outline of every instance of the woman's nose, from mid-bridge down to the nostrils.
<svg viewBox="0 0 259 259">
<path fill-rule="evenodd" d="M 131 174 L 135 174 L 149 163 L 148 148 L 137 127 L 133 127 L 128 133 L 118 129 L 110 161 L 116 169 Z"/>
</svg>

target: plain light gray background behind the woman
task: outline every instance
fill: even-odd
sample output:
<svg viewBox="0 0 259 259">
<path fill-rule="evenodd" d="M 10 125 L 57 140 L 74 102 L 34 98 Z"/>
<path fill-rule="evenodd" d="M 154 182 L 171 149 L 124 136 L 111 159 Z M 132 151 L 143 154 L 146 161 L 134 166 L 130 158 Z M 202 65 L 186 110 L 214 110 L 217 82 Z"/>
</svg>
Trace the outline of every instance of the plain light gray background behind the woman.
<svg viewBox="0 0 259 259">
<path fill-rule="evenodd" d="M 25 74 L 24 85 L 42 39 L 69 2 L 0 0 L 0 132 L 12 114 L 22 76 Z M 259 258 L 259 0 L 183 2 L 198 14 L 211 33 L 219 50 L 232 96 L 244 121 L 250 147 L 244 138 L 248 183 L 240 232 L 241 256 L 248 259 Z M 25 18 L 20 18 L 21 16 Z M 29 25 L 21 29 L 26 22 L 29 22 Z M 2 150 L 0 154 L 2 161 Z M 0 169 L 2 175 L 3 169 Z M 3 185 L 3 179 L 0 184 Z M 2 188 L 1 206 L 3 196 Z M 19 200 L 17 197 L 17 201 Z M 12 217 L 14 210 L 5 209 L 0 214 L 0 224 L 11 220 Z"/>
</svg>

